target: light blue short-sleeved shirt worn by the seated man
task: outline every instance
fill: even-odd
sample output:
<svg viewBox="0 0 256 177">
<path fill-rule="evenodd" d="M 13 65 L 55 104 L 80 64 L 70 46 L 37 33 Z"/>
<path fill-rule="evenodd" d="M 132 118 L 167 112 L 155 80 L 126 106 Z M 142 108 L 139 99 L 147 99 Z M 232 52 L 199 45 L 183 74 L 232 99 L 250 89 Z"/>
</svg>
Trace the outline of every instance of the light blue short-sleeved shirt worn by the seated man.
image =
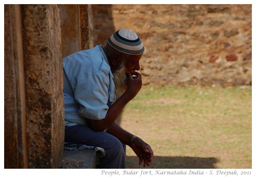
<svg viewBox="0 0 256 177">
<path fill-rule="evenodd" d="M 101 45 L 63 59 L 65 126 L 104 119 L 116 100 L 113 74 Z"/>
</svg>

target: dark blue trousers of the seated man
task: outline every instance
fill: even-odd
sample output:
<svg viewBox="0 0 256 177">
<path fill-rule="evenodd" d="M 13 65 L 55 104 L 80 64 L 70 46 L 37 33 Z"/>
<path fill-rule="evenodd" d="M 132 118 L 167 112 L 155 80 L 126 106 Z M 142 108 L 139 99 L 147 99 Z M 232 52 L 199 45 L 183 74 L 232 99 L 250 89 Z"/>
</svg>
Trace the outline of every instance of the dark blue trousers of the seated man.
<svg viewBox="0 0 256 177">
<path fill-rule="evenodd" d="M 94 132 L 86 125 L 65 127 L 65 142 L 98 146 L 106 151 L 97 168 L 126 168 L 126 145 L 107 132 Z"/>
</svg>

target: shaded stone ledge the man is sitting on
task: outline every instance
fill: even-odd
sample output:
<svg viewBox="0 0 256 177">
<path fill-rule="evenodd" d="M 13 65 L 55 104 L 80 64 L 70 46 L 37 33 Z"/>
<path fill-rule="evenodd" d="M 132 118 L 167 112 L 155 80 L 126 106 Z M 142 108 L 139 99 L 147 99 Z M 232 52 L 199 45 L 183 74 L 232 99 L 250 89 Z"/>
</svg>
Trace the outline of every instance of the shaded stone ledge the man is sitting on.
<svg viewBox="0 0 256 177">
<path fill-rule="evenodd" d="M 63 151 L 63 160 L 59 168 L 96 168 L 99 154 L 94 150 Z"/>
</svg>

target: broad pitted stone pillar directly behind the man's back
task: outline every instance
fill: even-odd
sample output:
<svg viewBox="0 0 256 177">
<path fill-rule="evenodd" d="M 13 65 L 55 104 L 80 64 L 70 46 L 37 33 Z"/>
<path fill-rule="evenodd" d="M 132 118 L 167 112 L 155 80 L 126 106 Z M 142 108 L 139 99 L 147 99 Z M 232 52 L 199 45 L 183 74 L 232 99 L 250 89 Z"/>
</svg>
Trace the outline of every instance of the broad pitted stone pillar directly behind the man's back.
<svg viewBox="0 0 256 177">
<path fill-rule="evenodd" d="M 21 7 L 28 168 L 58 168 L 64 146 L 59 7 Z"/>
</svg>

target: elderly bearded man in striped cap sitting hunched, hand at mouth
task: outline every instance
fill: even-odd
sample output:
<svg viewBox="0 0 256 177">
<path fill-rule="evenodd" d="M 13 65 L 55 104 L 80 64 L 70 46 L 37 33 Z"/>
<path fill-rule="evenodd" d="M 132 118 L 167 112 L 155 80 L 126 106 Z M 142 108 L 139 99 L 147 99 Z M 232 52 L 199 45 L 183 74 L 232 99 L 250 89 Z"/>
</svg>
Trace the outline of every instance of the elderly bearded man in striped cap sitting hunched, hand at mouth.
<svg viewBox="0 0 256 177">
<path fill-rule="evenodd" d="M 115 123 L 142 86 L 139 61 L 144 46 L 130 30 L 116 31 L 105 46 L 63 59 L 65 142 L 98 146 L 106 156 L 97 168 L 126 168 L 126 145 L 149 166 L 151 147 Z"/>
</svg>

